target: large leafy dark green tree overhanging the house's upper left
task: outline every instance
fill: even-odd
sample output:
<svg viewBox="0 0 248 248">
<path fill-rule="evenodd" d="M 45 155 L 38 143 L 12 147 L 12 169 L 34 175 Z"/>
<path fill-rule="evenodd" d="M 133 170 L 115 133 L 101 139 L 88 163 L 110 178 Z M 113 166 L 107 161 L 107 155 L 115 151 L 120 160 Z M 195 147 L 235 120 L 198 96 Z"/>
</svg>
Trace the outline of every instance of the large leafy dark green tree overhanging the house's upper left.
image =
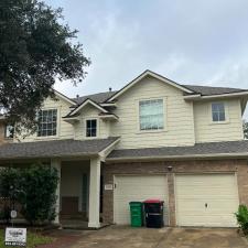
<svg viewBox="0 0 248 248">
<path fill-rule="evenodd" d="M 62 9 L 37 0 L 0 1 L 0 105 L 10 123 L 34 130 L 55 79 L 82 82 L 90 64 L 77 31 L 63 24 Z"/>
</svg>

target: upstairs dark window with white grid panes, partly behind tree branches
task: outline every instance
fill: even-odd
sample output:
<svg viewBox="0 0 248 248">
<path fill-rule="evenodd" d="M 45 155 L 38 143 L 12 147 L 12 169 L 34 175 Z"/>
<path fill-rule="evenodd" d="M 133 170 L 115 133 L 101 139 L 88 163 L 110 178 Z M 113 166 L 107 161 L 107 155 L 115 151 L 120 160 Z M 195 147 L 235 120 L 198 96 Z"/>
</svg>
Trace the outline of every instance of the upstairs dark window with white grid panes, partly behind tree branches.
<svg viewBox="0 0 248 248">
<path fill-rule="evenodd" d="M 57 109 L 41 110 L 37 115 L 37 137 L 56 136 Z"/>
</svg>

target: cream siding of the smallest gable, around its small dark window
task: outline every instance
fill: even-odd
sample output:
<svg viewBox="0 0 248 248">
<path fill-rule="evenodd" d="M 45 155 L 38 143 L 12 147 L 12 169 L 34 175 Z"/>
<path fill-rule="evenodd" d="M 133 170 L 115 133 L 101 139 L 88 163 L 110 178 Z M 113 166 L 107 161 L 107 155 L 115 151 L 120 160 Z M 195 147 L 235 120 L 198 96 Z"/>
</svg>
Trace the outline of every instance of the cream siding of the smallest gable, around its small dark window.
<svg viewBox="0 0 248 248">
<path fill-rule="evenodd" d="M 83 139 L 93 139 L 86 137 L 86 120 L 88 119 L 97 119 L 97 137 L 98 138 L 108 138 L 109 137 L 109 125 L 108 121 L 103 120 L 99 118 L 99 112 L 96 107 L 90 105 L 85 106 L 80 110 L 79 121 L 74 126 L 75 127 L 75 139 L 83 140 Z"/>
</svg>

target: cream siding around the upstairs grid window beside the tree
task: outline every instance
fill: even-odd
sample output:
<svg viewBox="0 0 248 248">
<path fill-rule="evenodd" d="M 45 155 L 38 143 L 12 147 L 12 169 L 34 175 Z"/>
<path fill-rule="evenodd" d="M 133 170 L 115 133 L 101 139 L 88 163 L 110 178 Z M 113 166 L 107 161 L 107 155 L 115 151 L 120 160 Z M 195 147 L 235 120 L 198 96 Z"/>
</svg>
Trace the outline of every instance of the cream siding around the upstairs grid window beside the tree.
<svg viewBox="0 0 248 248">
<path fill-rule="evenodd" d="M 31 142 L 31 141 L 44 141 L 44 140 L 54 140 L 54 139 L 73 139 L 74 138 L 74 128 L 72 125 L 65 122 L 62 117 L 66 116 L 71 109 L 72 104 L 68 101 L 56 97 L 55 99 L 47 98 L 42 109 L 57 109 L 57 134 L 54 137 L 37 137 L 36 133 L 32 136 L 28 136 L 25 139 L 20 140 L 22 142 Z M 18 139 L 15 139 L 18 141 Z"/>
</svg>

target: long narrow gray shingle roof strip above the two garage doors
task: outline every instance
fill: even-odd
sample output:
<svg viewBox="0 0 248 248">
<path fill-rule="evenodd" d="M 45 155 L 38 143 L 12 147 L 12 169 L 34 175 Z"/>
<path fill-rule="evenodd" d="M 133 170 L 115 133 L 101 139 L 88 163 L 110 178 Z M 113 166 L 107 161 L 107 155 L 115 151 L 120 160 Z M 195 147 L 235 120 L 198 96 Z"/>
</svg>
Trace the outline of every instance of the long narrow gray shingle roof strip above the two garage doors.
<svg viewBox="0 0 248 248">
<path fill-rule="evenodd" d="M 248 140 L 195 143 L 188 147 L 161 147 L 114 150 L 106 161 L 185 159 L 185 158 L 248 158 Z"/>
</svg>

